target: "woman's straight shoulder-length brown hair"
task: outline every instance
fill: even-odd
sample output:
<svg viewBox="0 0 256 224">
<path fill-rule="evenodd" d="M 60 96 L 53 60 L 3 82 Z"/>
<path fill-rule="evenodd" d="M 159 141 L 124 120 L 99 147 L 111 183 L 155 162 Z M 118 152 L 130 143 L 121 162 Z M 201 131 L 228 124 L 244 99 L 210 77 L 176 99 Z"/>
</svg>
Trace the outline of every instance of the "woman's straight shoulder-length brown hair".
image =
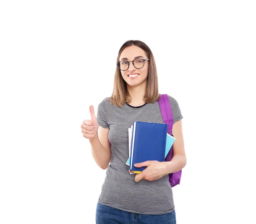
<svg viewBox="0 0 256 224">
<path fill-rule="evenodd" d="M 119 62 L 119 58 L 122 51 L 126 47 L 131 45 L 136 45 L 139 48 L 143 49 L 149 58 L 147 85 L 146 85 L 146 92 L 143 100 L 145 101 L 145 103 L 153 103 L 160 98 L 160 94 L 158 94 L 157 67 L 155 64 L 154 56 L 150 48 L 140 40 L 128 40 L 120 48 L 116 63 Z M 122 78 L 121 71 L 117 65 L 116 65 L 116 73 L 114 78 L 113 93 L 109 99 L 111 104 L 116 105 L 118 107 L 123 107 L 125 102 L 127 103 L 131 102 L 131 96 L 128 93 L 126 82 Z"/>
</svg>

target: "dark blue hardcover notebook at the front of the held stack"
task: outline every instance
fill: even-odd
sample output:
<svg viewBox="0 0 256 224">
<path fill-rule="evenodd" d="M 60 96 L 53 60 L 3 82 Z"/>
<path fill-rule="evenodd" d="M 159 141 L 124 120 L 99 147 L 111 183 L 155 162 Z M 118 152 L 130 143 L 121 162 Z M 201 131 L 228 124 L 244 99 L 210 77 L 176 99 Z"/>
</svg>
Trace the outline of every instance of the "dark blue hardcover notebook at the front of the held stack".
<svg viewBox="0 0 256 224">
<path fill-rule="evenodd" d="M 152 122 L 134 122 L 131 140 L 130 170 L 142 171 L 146 167 L 134 167 L 147 160 L 165 161 L 167 125 Z"/>
</svg>

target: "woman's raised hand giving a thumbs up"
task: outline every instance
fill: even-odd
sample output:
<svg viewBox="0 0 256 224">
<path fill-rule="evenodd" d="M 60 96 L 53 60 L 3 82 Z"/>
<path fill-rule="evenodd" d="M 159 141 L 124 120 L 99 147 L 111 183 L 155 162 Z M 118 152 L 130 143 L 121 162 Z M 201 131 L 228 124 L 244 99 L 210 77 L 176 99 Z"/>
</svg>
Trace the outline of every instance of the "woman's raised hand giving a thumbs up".
<svg viewBox="0 0 256 224">
<path fill-rule="evenodd" d="M 93 106 L 90 106 L 90 115 L 91 115 L 91 119 L 84 120 L 83 124 L 81 125 L 81 128 L 82 128 L 82 133 L 84 135 L 84 138 L 94 139 L 98 133 L 99 125 L 94 113 Z"/>
</svg>

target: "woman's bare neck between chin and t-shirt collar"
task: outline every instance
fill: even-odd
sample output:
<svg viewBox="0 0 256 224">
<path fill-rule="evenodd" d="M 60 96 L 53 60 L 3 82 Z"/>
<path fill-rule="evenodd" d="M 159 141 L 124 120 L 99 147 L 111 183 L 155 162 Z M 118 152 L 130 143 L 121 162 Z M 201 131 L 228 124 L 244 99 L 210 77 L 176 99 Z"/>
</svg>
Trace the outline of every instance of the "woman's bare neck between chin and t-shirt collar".
<svg viewBox="0 0 256 224">
<path fill-rule="evenodd" d="M 146 92 L 146 85 L 147 85 L 146 82 L 144 82 L 139 86 L 127 85 L 128 93 L 131 96 L 131 102 L 129 103 L 130 105 L 137 107 L 145 104 L 145 101 L 143 100 L 143 98 Z"/>
</svg>

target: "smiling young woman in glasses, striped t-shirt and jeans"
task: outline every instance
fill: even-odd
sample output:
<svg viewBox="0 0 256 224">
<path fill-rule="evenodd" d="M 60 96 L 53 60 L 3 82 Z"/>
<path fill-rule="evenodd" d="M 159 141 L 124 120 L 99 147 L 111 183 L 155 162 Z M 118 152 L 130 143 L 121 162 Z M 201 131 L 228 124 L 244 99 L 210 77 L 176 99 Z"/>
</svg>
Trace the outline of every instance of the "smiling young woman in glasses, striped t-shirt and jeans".
<svg viewBox="0 0 256 224">
<path fill-rule="evenodd" d="M 142 41 L 129 40 L 119 50 L 112 96 L 90 106 L 90 120 L 81 125 L 90 140 L 95 162 L 106 170 L 96 208 L 97 224 L 175 224 L 175 206 L 169 173 L 186 165 L 181 115 L 169 96 L 174 125 L 173 157 L 169 162 L 145 161 L 140 174 L 130 174 L 128 128 L 134 121 L 163 123 L 158 99 L 154 56 Z"/>
</svg>

